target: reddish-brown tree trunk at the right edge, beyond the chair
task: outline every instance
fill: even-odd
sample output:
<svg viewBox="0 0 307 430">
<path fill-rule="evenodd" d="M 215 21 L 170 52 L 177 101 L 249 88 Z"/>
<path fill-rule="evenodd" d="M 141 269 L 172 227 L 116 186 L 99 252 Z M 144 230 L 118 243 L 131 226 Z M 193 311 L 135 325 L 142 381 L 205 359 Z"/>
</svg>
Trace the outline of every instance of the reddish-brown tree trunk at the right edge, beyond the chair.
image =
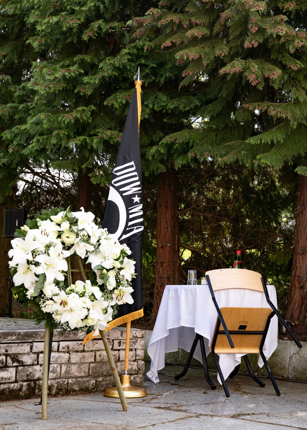
<svg viewBox="0 0 307 430">
<path fill-rule="evenodd" d="M 307 326 L 307 177 L 299 175 L 294 255 L 286 319 Z"/>
</svg>

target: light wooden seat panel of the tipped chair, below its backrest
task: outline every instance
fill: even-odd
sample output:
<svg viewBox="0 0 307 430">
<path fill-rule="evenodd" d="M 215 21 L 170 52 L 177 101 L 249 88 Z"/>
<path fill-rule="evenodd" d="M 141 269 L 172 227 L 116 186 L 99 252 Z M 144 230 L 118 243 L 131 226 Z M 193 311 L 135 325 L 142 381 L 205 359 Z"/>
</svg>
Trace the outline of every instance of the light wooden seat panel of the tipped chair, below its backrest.
<svg viewBox="0 0 307 430">
<path fill-rule="evenodd" d="M 221 307 L 221 314 L 230 332 L 234 348 L 230 347 L 224 329 L 220 326 L 219 332 L 222 333 L 217 335 L 215 345 L 213 340 L 216 335 L 213 335 L 210 350 L 213 345 L 215 353 L 259 353 L 267 318 L 271 313 L 272 309 L 269 307 Z M 215 332 L 217 324 L 218 318 Z"/>
</svg>

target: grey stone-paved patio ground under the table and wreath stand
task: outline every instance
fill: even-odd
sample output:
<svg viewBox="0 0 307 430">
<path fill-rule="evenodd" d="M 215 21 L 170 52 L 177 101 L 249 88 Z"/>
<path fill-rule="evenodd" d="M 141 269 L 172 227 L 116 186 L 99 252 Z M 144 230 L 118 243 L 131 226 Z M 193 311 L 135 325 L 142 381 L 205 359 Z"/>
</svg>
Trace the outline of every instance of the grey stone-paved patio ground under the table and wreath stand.
<svg viewBox="0 0 307 430">
<path fill-rule="evenodd" d="M 149 363 L 146 363 L 149 366 Z M 206 384 L 202 369 L 189 369 L 179 381 L 182 367 L 166 366 L 160 383 L 144 378 L 148 396 L 128 399 L 123 412 L 117 399 L 102 393 L 50 397 L 48 421 L 41 420 L 36 399 L 0 402 L 1 430 L 290 430 L 307 429 L 307 384 L 277 381 L 277 397 L 270 380 L 259 387 L 251 378 L 236 375 L 227 380 L 230 397 L 211 372 L 217 389 Z M 146 372 L 146 370 L 145 370 Z"/>
</svg>

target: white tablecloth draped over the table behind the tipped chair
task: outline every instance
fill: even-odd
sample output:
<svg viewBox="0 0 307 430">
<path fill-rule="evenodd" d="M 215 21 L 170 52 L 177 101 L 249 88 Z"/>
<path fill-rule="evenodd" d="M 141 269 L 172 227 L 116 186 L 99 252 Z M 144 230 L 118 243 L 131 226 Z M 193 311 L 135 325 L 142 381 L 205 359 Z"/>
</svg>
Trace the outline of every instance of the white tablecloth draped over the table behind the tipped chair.
<svg viewBox="0 0 307 430">
<path fill-rule="evenodd" d="M 276 290 L 267 286 L 270 300 L 277 307 Z M 264 293 L 246 289 L 215 291 L 218 306 L 270 307 Z M 207 285 L 167 285 L 163 292 L 157 320 L 151 335 L 147 352 L 151 358 L 147 376 L 159 382 L 158 371 L 165 366 L 165 354 L 182 348 L 190 351 L 195 333 L 204 337 L 206 355 L 210 352 L 210 341 L 215 328 L 217 311 Z M 264 356 L 268 359 L 277 347 L 278 319 L 273 316 L 264 343 Z M 226 379 L 241 362 L 244 354 L 219 354 L 219 363 Z M 198 342 L 193 357 L 202 361 Z M 258 365 L 263 366 L 259 354 Z M 218 376 L 218 381 L 221 380 Z"/>
</svg>

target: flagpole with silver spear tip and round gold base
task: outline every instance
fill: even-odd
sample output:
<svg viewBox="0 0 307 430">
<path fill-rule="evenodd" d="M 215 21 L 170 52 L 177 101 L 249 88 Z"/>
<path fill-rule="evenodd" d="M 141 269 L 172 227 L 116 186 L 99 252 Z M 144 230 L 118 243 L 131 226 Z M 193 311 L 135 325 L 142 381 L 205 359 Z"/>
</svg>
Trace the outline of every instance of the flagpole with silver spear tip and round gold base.
<svg viewBox="0 0 307 430">
<path fill-rule="evenodd" d="M 140 132 L 140 120 L 141 120 L 141 75 L 140 68 L 138 68 L 137 73 L 134 76 L 135 80 L 135 88 L 137 92 L 138 99 L 138 131 Z M 140 387 L 132 387 L 130 385 L 130 375 L 128 375 L 128 367 L 129 367 L 129 347 L 130 347 L 130 329 L 131 329 L 131 321 L 126 322 L 126 344 L 125 344 L 125 363 L 124 363 L 124 374 L 121 377 L 121 384 L 123 387 L 123 392 L 125 393 L 125 397 L 127 399 L 131 399 L 134 397 L 146 397 L 147 393 L 144 388 Z M 104 391 L 105 397 L 119 397 L 117 392 L 117 387 L 107 388 Z"/>
</svg>

